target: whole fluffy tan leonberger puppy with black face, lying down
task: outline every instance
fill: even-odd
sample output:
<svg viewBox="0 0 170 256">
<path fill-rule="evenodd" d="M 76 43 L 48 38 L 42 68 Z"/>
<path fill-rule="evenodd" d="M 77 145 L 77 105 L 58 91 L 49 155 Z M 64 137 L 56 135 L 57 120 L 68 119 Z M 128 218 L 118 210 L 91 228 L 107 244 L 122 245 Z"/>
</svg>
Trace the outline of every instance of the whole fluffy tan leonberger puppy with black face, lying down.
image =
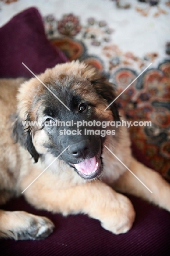
<svg viewBox="0 0 170 256">
<path fill-rule="evenodd" d="M 0 86 L 1 204 L 24 191 L 37 209 L 85 213 L 114 234 L 130 230 L 135 217 L 131 201 L 117 191 L 170 211 L 170 185 L 133 158 L 127 127 L 110 126 L 120 121 L 116 94 L 95 68 L 65 63 L 38 79 L 2 79 Z M 1 237 L 34 240 L 53 229 L 48 218 L 0 211 Z"/>
</svg>

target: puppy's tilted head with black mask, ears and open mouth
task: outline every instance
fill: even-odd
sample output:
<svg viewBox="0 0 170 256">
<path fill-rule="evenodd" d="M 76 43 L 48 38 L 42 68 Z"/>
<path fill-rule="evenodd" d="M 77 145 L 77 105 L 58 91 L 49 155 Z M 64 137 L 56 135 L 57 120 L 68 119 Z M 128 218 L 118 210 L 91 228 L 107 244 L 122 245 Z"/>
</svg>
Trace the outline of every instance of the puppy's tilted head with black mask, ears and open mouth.
<svg viewBox="0 0 170 256">
<path fill-rule="evenodd" d="M 119 120 L 115 103 L 107 108 L 115 98 L 113 86 L 79 62 L 57 65 L 38 78 L 43 84 L 32 78 L 19 89 L 15 140 L 36 162 L 48 154 L 57 157 L 69 146 L 58 158 L 81 177 L 96 178 L 105 140 L 103 126 L 96 124 Z"/>
</svg>

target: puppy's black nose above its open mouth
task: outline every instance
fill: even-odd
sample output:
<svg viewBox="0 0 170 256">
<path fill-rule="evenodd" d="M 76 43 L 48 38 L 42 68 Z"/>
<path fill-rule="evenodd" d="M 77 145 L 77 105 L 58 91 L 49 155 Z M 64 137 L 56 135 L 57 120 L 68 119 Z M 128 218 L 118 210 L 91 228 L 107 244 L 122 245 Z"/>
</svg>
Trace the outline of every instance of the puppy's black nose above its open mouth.
<svg viewBox="0 0 170 256">
<path fill-rule="evenodd" d="M 85 158 L 90 152 L 90 141 L 84 140 L 71 145 L 68 148 L 69 153 L 71 153 L 75 158 Z"/>
</svg>

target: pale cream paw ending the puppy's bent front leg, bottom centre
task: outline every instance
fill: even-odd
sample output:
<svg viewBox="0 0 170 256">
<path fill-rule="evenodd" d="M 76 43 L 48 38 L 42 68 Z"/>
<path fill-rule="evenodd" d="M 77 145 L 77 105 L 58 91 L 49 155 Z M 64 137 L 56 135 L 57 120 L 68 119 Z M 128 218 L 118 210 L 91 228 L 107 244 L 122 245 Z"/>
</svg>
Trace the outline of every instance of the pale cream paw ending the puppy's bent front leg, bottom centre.
<svg viewBox="0 0 170 256">
<path fill-rule="evenodd" d="M 101 222 L 101 225 L 104 229 L 118 235 L 131 229 L 134 218 L 135 212 L 132 203 L 127 199 L 121 201 L 119 208 L 112 209 L 109 217 Z"/>
</svg>

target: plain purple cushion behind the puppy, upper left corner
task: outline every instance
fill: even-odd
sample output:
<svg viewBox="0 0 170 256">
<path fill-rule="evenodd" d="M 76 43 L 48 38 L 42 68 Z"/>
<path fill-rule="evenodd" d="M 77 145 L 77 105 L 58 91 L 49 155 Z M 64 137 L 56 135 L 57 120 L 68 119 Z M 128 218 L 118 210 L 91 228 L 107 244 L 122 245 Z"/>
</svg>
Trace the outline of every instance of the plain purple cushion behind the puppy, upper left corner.
<svg viewBox="0 0 170 256">
<path fill-rule="evenodd" d="M 32 77 L 48 67 L 67 61 L 67 57 L 49 44 L 42 17 L 36 8 L 14 16 L 0 28 L 0 77 Z"/>
</svg>

